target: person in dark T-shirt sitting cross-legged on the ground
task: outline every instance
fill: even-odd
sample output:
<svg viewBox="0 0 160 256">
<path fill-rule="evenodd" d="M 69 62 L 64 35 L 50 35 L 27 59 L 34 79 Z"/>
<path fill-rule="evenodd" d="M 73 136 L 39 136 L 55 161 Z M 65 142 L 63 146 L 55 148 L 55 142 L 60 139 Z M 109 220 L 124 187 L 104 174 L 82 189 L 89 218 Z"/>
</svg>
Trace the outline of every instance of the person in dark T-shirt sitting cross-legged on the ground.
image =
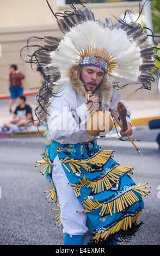
<svg viewBox="0 0 160 256">
<path fill-rule="evenodd" d="M 14 111 L 13 119 L 4 123 L 3 130 L 5 130 L 5 127 L 13 131 L 20 130 L 20 127 L 26 126 L 29 121 L 33 120 L 32 108 L 26 104 L 26 97 L 24 95 L 20 95 L 17 97 L 17 103 L 18 106 Z M 30 122 L 28 125 L 31 124 L 32 122 Z"/>
</svg>

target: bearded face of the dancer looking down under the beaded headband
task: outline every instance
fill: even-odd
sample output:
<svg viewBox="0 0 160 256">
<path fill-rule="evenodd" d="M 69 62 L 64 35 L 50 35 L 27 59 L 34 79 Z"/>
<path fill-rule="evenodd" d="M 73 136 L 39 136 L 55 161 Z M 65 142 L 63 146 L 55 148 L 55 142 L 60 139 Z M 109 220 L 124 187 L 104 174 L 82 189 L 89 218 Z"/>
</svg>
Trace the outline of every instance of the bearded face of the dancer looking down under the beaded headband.
<svg viewBox="0 0 160 256">
<path fill-rule="evenodd" d="M 87 92 L 95 92 L 96 88 L 101 84 L 104 71 L 95 66 L 84 66 L 82 70 L 77 70 L 78 77 L 82 80 Z"/>
</svg>

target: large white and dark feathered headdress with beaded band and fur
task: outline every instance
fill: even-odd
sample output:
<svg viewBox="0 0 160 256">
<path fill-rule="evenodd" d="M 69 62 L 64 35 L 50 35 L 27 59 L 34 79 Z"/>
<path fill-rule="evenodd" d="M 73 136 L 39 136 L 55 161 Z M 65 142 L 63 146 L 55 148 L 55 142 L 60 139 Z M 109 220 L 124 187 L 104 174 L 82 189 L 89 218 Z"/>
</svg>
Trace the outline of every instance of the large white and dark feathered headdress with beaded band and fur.
<svg viewBox="0 0 160 256">
<path fill-rule="evenodd" d="M 87 93 L 77 76 L 79 65 L 100 65 L 105 71 L 103 82 L 96 90 L 104 107 L 112 99 L 113 84 L 138 83 L 141 88 L 151 89 L 152 70 L 156 68 L 155 52 L 147 43 L 147 34 L 140 24 L 118 20 L 113 25 L 110 19 L 96 20 L 84 5 L 83 9 L 76 9 L 73 4 L 71 7 L 73 10 L 64 14 L 52 11 L 64 33 L 63 38 L 45 36 L 45 46 L 39 47 L 30 59 L 30 63 L 47 66 L 46 85 L 40 89 L 40 106 L 35 111 L 41 123 L 46 123 L 51 96 L 58 96 L 58 90 L 67 81 L 70 80 L 78 93 Z"/>
</svg>

